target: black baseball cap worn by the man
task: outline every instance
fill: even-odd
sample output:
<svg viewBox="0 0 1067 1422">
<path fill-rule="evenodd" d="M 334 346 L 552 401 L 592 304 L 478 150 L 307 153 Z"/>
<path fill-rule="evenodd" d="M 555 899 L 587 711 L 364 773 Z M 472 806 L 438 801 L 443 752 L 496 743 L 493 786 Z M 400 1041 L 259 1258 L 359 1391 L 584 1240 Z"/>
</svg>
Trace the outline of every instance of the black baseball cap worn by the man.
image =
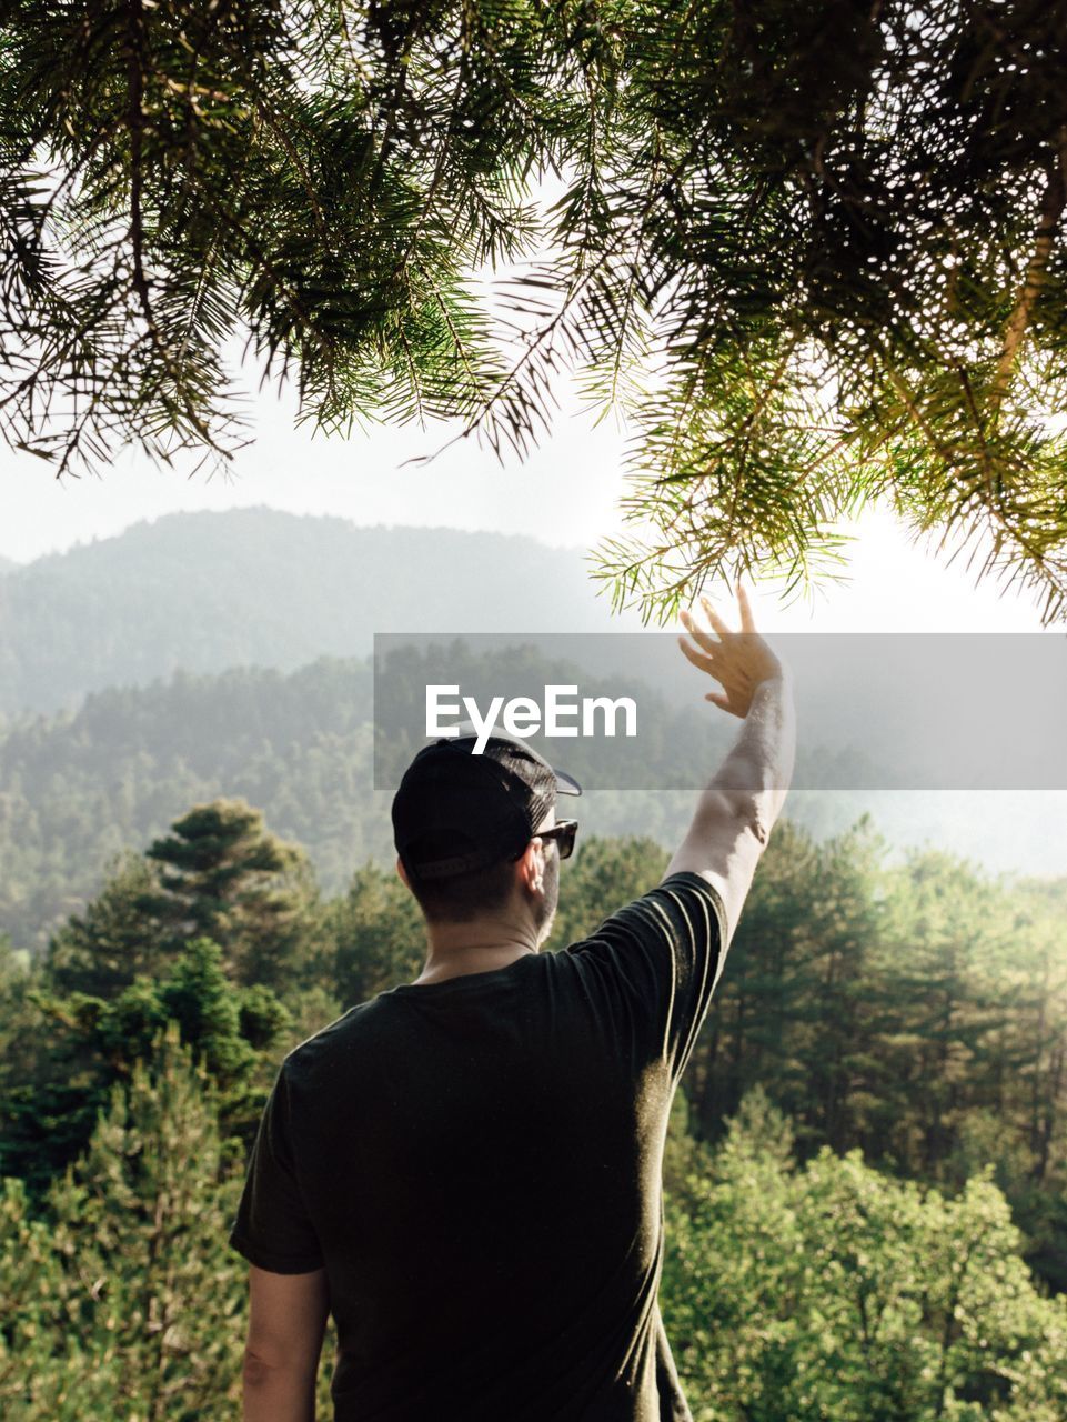
<svg viewBox="0 0 1067 1422">
<path fill-rule="evenodd" d="M 418 879 L 517 859 L 556 796 L 581 795 L 571 775 L 553 769 L 517 737 L 494 731 L 477 754 L 476 744 L 473 731 L 442 737 L 403 772 L 392 801 L 394 843 Z"/>
</svg>

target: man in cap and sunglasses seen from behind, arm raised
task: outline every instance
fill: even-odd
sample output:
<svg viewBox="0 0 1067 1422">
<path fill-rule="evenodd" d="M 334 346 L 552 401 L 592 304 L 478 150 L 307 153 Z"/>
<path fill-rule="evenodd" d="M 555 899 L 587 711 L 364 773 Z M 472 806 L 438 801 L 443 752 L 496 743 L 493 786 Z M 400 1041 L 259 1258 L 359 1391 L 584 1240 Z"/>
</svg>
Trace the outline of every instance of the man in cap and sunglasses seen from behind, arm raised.
<svg viewBox="0 0 1067 1422">
<path fill-rule="evenodd" d="M 793 772 L 789 675 L 705 602 L 686 657 L 743 718 L 666 875 L 540 953 L 575 823 L 523 742 L 426 747 L 394 801 L 426 919 L 415 983 L 286 1057 L 232 1244 L 250 1261 L 246 1422 L 682 1422 L 656 1303 L 671 1101 Z"/>
</svg>

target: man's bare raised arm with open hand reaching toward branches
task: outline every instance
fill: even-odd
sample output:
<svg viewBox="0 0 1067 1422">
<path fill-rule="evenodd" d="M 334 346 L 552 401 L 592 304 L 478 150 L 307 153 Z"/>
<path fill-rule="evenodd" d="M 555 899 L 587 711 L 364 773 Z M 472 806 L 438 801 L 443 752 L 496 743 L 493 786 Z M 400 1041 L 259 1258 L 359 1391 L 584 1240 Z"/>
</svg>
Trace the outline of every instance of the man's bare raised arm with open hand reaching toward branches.
<svg viewBox="0 0 1067 1422">
<path fill-rule="evenodd" d="M 796 712 L 789 668 L 756 631 L 740 579 L 740 631 L 730 631 L 710 603 L 700 602 L 717 640 L 682 613 L 692 641 L 678 641 L 689 661 L 722 687 L 720 693 L 708 693 L 706 700 L 740 717 L 742 727 L 700 795 L 689 832 L 664 877 L 689 870 L 719 892 L 729 944 L 793 779 Z"/>
</svg>

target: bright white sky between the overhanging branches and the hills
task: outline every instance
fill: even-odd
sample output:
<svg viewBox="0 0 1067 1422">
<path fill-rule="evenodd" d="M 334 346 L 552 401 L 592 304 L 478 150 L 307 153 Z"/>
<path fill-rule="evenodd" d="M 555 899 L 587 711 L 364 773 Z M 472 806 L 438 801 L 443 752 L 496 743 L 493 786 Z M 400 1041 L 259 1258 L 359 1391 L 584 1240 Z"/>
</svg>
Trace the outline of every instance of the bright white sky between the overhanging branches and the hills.
<svg viewBox="0 0 1067 1422">
<path fill-rule="evenodd" d="M 142 519 L 180 509 L 269 505 L 293 513 L 331 513 L 361 525 L 416 523 L 529 533 L 546 543 L 591 547 L 621 528 L 625 437 L 611 418 L 570 407 L 557 415 L 551 439 L 519 464 L 502 468 L 473 441 L 436 461 L 405 461 L 439 449 L 450 428 L 374 429 L 350 439 L 294 428 L 288 398 L 254 402 L 256 442 L 233 474 L 186 478 L 161 472 L 132 454 L 102 478 L 57 482 L 28 455 L 0 454 L 0 555 L 27 562 L 80 542 L 109 538 Z M 960 553 L 946 567 L 909 546 L 892 516 L 870 513 L 855 526 L 860 540 L 844 569 L 851 583 L 828 584 L 814 602 L 780 600 L 783 584 L 757 583 L 754 603 L 767 631 L 1039 631 L 1039 604 L 992 582 L 975 587 Z M 955 546 L 955 545 L 952 545 Z"/>
</svg>

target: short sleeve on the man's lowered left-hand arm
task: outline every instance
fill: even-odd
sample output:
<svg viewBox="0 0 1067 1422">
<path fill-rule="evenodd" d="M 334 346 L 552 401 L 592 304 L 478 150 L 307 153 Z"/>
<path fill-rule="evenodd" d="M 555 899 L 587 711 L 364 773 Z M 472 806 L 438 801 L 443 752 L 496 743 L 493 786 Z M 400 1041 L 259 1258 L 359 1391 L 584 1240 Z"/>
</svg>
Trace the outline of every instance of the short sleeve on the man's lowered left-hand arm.
<svg viewBox="0 0 1067 1422">
<path fill-rule="evenodd" d="M 324 1263 L 297 1180 L 284 1062 L 263 1108 L 229 1243 L 271 1274 L 310 1274 Z"/>
</svg>

